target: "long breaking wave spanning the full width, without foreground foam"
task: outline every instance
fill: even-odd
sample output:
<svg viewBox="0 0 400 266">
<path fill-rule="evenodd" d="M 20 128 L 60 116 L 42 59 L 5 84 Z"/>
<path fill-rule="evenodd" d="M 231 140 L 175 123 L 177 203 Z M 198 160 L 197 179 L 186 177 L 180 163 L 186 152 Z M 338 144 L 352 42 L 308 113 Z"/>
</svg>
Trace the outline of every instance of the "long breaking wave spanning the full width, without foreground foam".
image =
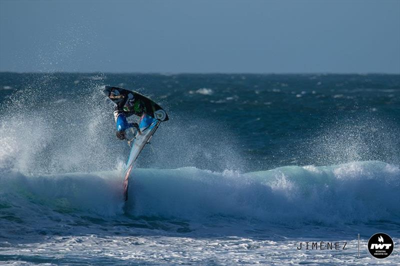
<svg viewBox="0 0 400 266">
<path fill-rule="evenodd" d="M 400 169 L 380 161 L 248 173 L 138 168 L 130 178 L 129 201 L 122 210 L 119 171 L 4 172 L 0 205 L 13 217 L 11 223 L 43 220 L 54 213 L 91 213 L 104 219 L 127 213 L 205 223 L 233 218 L 291 226 L 400 221 Z"/>
</svg>

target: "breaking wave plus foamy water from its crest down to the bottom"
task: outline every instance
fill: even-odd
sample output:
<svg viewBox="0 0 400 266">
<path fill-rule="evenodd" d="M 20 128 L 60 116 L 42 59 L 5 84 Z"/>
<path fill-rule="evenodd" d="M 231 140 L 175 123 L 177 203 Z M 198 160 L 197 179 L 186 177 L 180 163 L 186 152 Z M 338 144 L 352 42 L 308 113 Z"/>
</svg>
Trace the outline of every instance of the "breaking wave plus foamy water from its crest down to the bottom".
<svg viewBox="0 0 400 266">
<path fill-rule="evenodd" d="M 398 242 L 400 169 L 380 161 L 214 172 L 26 174 L 0 169 L 0 260 L 48 264 L 374 264 L 378 230 Z M 357 258 L 356 233 L 361 234 Z M 346 250 L 297 250 L 302 241 Z M 400 262 L 398 252 L 385 259 Z"/>
</svg>

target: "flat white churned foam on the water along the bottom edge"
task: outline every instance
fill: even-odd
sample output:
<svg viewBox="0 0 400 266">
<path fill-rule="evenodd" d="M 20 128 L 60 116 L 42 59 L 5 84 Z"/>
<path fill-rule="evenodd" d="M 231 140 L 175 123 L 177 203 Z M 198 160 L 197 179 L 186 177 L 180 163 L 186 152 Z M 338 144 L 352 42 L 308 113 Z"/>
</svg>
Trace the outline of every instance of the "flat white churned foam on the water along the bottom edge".
<svg viewBox="0 0 400 266">
<path fill-rule="evenodd" d="M 317 239 L 314 239 L 317 240 Z M 398 242 L 399 238 L 395 241 Z M 366 240 L 360 241 L 362 250 L 357 253 L 357 240 L 347 242 L 346 250 L 297 250 L 299 240 L 253 240 L 240 237 L 192 238 L 170 236 L 144 237 L 44 237 L 43 242 L 24 245 L 3 244 L 5 261 L 53 264 L 373 264 L 378 261 L 366 251 Z M 13 251 L 11 251 L 13 249 Z M 32 255 L 30 250 L 38 250 Z M 15 255 L 18 253 L 18 255 Z M 399 255 L 382 261 L 394 264 Z"/>
</svg>

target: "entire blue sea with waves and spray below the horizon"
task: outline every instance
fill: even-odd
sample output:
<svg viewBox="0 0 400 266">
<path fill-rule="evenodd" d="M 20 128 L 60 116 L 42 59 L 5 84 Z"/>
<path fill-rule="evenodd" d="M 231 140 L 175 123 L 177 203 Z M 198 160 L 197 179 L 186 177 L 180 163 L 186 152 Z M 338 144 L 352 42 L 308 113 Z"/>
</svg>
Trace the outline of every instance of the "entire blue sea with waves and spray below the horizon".
<svg viewBox="0 0 400 266">
<path fill-rule="evenodd" d="M 125 204 L 105 85 L 170 117 Z M 0 111 L 1 264 L 400 263 L 400 75 L 1 72 Z"/>
</svg>

